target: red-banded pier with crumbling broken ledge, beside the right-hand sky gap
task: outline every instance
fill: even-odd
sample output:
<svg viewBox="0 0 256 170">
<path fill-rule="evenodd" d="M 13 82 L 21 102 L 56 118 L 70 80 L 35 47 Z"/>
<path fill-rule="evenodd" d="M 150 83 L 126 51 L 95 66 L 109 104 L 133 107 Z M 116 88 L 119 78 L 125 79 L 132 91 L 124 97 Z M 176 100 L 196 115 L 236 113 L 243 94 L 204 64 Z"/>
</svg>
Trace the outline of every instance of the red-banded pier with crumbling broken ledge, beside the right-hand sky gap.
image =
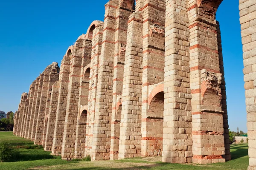
<svg viewBox="0 0 256 170">
<path fill-rule="evenodd" d="M 215 12 L 222 0 L 190 1 L 190 86 L 195 163 L 225 162 L 224 115 L 220 73 L 218 23 Z M 211 10 L 209 10 L 211 9 Z M 224 94 L 225 95 L 225 94 Z M 227 118 L 227 116 L 226 116 Z"/>
</svg>

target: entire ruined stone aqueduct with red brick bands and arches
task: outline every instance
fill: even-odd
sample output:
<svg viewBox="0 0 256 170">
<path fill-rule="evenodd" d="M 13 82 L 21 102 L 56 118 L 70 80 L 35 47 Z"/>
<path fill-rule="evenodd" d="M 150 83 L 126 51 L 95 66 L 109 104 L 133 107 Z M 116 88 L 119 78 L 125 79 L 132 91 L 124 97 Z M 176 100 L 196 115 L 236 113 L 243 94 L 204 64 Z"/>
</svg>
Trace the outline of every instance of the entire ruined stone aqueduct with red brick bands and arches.
<svg viewBox="0 0 256 170">
<path fill-rule="evenodd" d="M 230 160 L 221 1 L 110 0 L 60 71 L 52 63 L 22 94 L 14 133 L 62 159 Z M 253 169 L 256 3 L 240 3 Z"/>
</svg>

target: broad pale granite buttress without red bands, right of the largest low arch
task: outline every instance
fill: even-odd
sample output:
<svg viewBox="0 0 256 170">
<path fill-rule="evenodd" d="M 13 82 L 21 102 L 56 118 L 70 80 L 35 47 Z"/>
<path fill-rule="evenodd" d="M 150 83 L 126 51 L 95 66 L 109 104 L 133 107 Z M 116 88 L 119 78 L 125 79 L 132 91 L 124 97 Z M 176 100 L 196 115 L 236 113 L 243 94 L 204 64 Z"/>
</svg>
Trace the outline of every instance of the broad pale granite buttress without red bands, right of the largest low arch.
<svg viewBox="0 0 256 170">
<path fill-rule="evenodd" d="M 192 161 L 186 1 L 166 0 L 163 162 Z"/>
</svg>

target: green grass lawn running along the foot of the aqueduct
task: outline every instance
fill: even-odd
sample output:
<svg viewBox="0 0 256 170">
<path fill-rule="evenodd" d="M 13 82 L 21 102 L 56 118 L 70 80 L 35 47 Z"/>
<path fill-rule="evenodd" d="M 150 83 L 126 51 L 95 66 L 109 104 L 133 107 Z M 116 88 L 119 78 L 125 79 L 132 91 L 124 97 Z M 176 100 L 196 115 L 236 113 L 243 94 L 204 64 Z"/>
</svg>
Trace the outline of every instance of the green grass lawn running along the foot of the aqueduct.
<svg viewBox="0 0 256 170">
<path fill-rule="evenodd" d="M 160 156 L 115 161 L 65 161 L 12 132 L 0 132 L 0 140 L 8 141 L 20 152 L 18 160 L 0 163 L 0 170 L 247 170 L 249 166 L 248 144 L 231 145 L 231 161 L 199 165 L 162 163 Z"/>
</svg>

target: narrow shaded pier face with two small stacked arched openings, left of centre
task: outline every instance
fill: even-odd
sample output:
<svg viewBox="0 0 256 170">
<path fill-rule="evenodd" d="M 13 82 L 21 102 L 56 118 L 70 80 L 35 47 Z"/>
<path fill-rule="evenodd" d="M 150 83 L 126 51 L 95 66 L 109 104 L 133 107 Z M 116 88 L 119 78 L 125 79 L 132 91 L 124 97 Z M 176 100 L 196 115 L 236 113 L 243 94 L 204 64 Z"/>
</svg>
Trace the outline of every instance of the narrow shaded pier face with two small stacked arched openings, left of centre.
<svg viewBox="0 0 256 170">
<path fill-rule="evenodd" d="M 89 77 L 90 77 L 90 60 L 91 60 L 92 41 L 91 38 L 85 38 L 83 42 L 82 51 L 82 64 L 80 73 L 80 87 L 79 87 L 79 101 L 78 101 L 78 114 L 76 120 L 76 143 L 75 143 L 75 157 L 83 158 L 85 152 L 85 139 L 86 139 L 86 115 L 81 115 L 84 107 L 88 105 L 89 93 Z"/>
</svg>

